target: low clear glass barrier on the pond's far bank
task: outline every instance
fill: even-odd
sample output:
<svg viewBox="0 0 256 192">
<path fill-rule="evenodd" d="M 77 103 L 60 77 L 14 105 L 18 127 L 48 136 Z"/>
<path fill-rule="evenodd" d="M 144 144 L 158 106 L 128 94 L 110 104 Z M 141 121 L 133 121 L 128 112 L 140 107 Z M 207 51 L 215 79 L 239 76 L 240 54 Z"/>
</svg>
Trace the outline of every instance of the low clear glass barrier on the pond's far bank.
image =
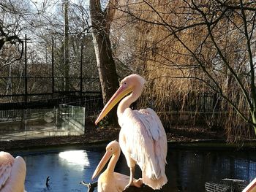
<svg viewBox="0 0 256 192">
<path fill-rule="evenodd" d="M 0 141 L 81 135 L 84 129 L 84 107 L 0 111 Z"/>
</svg>

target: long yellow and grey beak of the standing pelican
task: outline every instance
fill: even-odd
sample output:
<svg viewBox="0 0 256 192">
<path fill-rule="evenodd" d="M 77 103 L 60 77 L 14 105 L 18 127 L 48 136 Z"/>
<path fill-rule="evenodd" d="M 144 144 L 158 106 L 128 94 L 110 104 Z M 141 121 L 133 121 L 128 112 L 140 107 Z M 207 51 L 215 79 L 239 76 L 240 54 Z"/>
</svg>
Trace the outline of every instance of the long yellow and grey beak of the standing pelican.
<svg viewBox="0 0 256 192">
<path fill-rule="evenodd" d="M 126 85 L 121 85 L 116 93 L 113 94 L 113 96 L 110 98 L 108 103 L 103 108 L 102 112 L 100 112 L 99 117 L 97 120 L 95 120 L 95 125 L 99 123 L 99 120 L 102 120 L 110 110 L 120 101 L 124 96 L 126 96 L 128 93 L 132 92 L 132 88 L 127 87 Z"/>
</svg>

